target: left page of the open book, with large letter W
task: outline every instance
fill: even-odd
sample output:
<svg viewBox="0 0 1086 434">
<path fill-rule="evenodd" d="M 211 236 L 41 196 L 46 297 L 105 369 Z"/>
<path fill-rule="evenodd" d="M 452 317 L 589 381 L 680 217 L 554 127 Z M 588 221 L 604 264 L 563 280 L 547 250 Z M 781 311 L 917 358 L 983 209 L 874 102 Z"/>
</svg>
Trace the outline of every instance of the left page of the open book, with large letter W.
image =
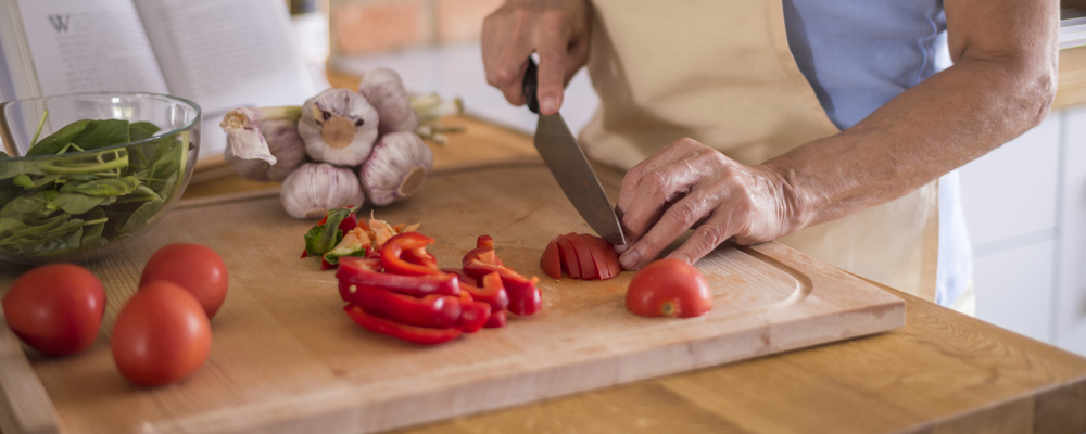
<svg viewBox="0 0 1086 434">
<path fill-rule="evenodd" d="M 169 93 L 130 0 L 18 0 L 45 97 Z"/>
</svg>

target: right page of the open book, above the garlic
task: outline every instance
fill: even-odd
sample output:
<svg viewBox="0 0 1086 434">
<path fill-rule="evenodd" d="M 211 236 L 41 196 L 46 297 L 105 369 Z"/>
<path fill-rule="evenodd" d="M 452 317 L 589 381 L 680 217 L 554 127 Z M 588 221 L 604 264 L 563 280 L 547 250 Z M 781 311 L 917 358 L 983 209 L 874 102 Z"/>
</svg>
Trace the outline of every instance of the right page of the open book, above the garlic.
<svg viewBox="0 0 1086 434">
<path fill-rule="evenodd" d="M 207 114 L 301 105 L 316 94 L 282 0 L 136 0 L 136 7 L 166 84 Z"/>
</svg>

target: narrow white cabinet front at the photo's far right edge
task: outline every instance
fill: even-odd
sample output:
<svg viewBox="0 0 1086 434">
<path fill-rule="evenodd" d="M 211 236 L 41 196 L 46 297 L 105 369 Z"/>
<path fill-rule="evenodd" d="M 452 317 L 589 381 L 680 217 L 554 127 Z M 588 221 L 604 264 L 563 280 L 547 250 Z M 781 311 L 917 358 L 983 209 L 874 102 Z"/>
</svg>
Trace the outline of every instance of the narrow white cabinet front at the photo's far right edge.
<svg viewBox="0 0 1086 434">
<path fill-rule="evenodd" d="M 1063 113 L 1056 344 L 1086 355 L 1086 107 Z"/>
</svg>

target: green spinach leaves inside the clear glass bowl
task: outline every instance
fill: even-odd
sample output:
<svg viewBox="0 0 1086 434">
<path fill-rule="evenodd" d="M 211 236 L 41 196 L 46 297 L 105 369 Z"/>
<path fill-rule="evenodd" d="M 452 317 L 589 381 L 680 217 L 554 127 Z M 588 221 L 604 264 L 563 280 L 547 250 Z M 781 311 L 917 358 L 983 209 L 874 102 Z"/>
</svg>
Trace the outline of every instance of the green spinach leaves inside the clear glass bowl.
<svg viewBox="0 0 1086 434">
<path fill-rule="evenodd" d="M 148 122 L 83 119 L 27 151 L 58 157 L 0 157 L 0 252 L 70 254 L 142 229 L 181 186 L 188 132 L 105 149 L 156 132 Z M 84 151 L 96 152 L 63 156 Z"/>
</svg>

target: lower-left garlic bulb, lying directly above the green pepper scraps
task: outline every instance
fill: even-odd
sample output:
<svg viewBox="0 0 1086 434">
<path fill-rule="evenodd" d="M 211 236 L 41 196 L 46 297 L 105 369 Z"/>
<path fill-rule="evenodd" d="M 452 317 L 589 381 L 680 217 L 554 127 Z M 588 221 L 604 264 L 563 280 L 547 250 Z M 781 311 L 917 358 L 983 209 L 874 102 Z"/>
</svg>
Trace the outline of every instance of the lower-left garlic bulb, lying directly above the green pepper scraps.
<svg viewBox="0 0 1086 434">
<path fill-rule="evenodd" d="M 351 169 L 305 163 L 282 182 L 279 202 L 294 218 L 317 218 L 328 209 L 362 206 L 366 196 Z"/>
</svg>

